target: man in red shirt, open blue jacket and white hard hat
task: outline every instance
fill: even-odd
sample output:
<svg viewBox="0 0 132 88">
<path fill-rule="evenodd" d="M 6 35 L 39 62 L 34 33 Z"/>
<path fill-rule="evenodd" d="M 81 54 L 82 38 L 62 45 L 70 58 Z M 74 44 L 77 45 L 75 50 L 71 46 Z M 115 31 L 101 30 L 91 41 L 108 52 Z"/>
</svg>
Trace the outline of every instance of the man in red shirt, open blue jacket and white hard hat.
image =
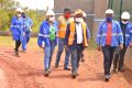
<svg viewBox="0 0 132 88">
<path fill-rule="evenodd" d="M 110 68 L 112 64 L 113 53 L 116 47 L 123 48 L 123 35 L 118 21 L 112 20 L 113 11 L 106 11 L 106 20 L 101 22 L 97 33 L 97 50 L 102 48 L 103 67 L 106 81 L 110 78 Z"/>
</svg>

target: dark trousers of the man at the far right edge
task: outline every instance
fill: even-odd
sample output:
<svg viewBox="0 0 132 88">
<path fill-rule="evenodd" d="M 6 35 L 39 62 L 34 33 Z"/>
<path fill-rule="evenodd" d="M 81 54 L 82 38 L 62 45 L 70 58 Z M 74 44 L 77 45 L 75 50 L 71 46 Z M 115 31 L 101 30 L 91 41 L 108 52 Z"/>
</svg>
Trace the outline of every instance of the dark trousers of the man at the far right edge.
<svg viewBox="0 0 132 88">
<path fill-rule="evenodd" d="M 118 65 L 119 65 L 118 69 L 121 69 L 123 67 L 125 52 L 127 52 L 127 46 L 124 46 L 123 50 L 121 50 L 121 51 L 119 47 L 116 48 L 114 58 L 113 58 L 113 68 L 114 69 L 117 69 Z"/>
</svg>

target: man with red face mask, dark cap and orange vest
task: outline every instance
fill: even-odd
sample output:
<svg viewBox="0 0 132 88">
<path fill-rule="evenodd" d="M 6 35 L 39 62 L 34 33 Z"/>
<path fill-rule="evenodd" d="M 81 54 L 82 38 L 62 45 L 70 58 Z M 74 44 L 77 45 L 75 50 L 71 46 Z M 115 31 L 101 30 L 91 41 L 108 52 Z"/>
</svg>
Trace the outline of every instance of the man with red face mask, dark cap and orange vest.
<svg viewBox="0 0 132 88">
<path fill-rule="evenodd" d="M 56 55 L 55 68 L 58 67 L 61 55 L 63 53 L 63 50 L 65 48 L 65 63 L 64 63 L 65 70 L 70 70 L 70 68 L 68 68 L 69 50 L 65 45 L 66 26 L 72 21 L 70 13 L 72 13 L 70 9 L 66 8 L 64 9 L 64 14 L 58 18 L 58 51 Z"/>
</svg>

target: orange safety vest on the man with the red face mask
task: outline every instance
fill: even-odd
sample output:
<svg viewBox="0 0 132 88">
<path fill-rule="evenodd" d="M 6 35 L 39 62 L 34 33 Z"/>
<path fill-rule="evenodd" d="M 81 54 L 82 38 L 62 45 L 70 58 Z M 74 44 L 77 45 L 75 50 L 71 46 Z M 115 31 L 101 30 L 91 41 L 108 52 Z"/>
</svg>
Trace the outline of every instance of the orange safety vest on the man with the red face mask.
<svg viewBox="0 0 132 88">
<path fill-rule="evenodd" d="M 58 20 L 59 20 L 58 37 L 59 37 L 59 38 L 64 38 L 65 35 L 66 35 L 66 26 L 67 26 L 66 19 L 62 15 L 62 16 L 59 16 Z M 72 19 L 69 19 L 68 21 L 70 22 Z"/>
</svg>

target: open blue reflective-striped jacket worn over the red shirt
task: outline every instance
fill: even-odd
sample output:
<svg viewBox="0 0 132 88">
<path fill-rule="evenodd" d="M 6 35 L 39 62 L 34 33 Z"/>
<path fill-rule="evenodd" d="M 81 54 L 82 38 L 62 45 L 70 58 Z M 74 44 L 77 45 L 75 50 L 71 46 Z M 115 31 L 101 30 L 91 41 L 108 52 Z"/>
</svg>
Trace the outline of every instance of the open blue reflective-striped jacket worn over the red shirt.
<svg viewBox="0 0 132 88">
<path fill-rule="evenodd" d="M 96 42 L 101 46 L 106 46 L 106 37 L 108 33 L 108 23 L 103 21 L 100 23 Z M 123 35 L 118 21 L 112 20 L 112 34 L 111 34 L 111 46 L 119 46 L 123 44 Z"/>
</svg>

